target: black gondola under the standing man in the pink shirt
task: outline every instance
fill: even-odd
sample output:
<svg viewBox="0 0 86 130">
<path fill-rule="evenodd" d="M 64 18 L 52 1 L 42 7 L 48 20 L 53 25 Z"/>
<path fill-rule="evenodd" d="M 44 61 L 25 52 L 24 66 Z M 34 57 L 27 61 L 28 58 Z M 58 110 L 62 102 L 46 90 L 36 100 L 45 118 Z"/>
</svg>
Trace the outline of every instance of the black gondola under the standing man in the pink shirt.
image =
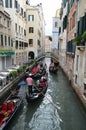
<svg viewBox="0 0 86 130">
<path fill-rule="evenodd" d="M 47 81 L 46 81 L 46 86 L 44 88 L 40 87 L 37 83 L 35 83 L 33 85 L 32 94 L 29 95 L 28 92 L 26 92 L 26 100 L 27 100 L 27 102 L 32 103 L 32 102 L 36 101 L 39 98 L 43 98 L 46 91 L 47 91 L 47 87 L 48 87 Z"/>
</svg>

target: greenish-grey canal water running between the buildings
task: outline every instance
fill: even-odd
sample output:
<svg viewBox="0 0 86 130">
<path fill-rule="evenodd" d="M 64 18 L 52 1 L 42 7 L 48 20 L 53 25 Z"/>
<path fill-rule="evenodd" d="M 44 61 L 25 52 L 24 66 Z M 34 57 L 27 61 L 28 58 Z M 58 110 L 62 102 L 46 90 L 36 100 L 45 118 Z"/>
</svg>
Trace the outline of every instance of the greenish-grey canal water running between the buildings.
<svg viewBox="0 0 86 130">
<path fill-rule="evenodd" d="M 50 59 L 45 59 L 50 64 Z M 48 90 L 33 105 L 25 100 L 6 130 L 86 130 L 86 113 L 64 73 L 48 72 Z M 21 87 L 21 92 L 26 88 Z"/>
</svg>

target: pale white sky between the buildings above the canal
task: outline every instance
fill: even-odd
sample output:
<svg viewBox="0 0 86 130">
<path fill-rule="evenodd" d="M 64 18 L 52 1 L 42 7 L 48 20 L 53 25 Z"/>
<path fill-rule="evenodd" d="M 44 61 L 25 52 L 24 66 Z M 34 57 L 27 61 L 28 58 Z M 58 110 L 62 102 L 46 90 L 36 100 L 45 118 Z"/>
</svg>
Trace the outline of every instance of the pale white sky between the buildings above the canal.
<svg viewBox="0 0 86 130">
<path fill-rule="evenodd" d="M 55 17 L 56 10 L 61 7 L 62 0 L 29 0 L 30 5 L 42 3 L 44 19 L 45 19 L 45 34 L 52 35 L 52 18 Z"/>
</svg>

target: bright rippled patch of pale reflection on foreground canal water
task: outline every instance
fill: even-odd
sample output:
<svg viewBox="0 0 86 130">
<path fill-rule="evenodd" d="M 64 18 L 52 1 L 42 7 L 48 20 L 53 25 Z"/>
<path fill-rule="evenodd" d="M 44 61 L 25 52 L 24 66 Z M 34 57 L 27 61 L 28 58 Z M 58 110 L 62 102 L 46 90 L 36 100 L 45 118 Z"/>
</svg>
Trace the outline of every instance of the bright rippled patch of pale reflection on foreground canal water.
<svg viewBox="0 0 86 130">
<path fill-rule="evenodd" d="M 61 130 L 60 121 L 57 108 L 47 93 L 28 125 L 30 130 Z"/>
</svg>

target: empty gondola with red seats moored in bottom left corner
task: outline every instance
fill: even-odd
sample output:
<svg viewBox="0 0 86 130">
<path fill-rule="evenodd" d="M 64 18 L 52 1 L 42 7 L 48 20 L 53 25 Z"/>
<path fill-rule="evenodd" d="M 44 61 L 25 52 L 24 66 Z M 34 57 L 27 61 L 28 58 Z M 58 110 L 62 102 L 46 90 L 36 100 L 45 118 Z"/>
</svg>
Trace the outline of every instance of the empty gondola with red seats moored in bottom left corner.
<svg viewBox="0 0 86 130">
<path fill-rule="evenodd" d="M 3 130 L 11 121 L 16 111 L 22 104 L 22 97 L 13 92 L 0 107 L 0 130 Z"/>
</svg>

